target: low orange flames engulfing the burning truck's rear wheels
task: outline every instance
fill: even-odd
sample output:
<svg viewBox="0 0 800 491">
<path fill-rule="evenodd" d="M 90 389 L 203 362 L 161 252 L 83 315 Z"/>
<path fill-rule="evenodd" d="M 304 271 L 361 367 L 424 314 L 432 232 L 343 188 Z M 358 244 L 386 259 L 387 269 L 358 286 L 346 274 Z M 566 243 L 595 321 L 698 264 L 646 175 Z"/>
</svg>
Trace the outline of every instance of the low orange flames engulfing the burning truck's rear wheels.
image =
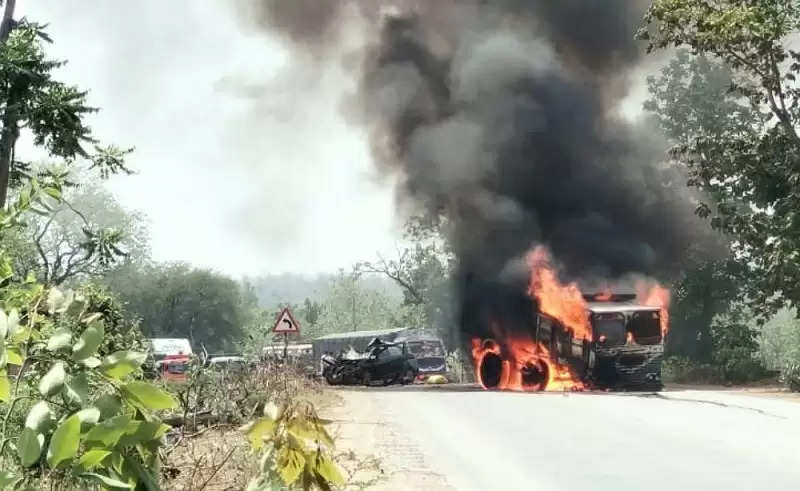
<svg viewBox="0 0 800 491">
<path fill-rule="evenodd" d="M 495 330 L 496 331 L 496 330 Z M 514 337 L 504 333 L 495 340 L 481 341 L 472 339 L 472 359 L 475 363 L 475 374 L 484 388 L 525 391 L 578 391 L 585 386 L 567 365 L 553 360 L 547 348 L 530 338 Z M 500 358 L 500 373 L 497 384 L 487 383 L 482 379 L 481 365 L 484 358 L 494 354 Z"/>
</svg>

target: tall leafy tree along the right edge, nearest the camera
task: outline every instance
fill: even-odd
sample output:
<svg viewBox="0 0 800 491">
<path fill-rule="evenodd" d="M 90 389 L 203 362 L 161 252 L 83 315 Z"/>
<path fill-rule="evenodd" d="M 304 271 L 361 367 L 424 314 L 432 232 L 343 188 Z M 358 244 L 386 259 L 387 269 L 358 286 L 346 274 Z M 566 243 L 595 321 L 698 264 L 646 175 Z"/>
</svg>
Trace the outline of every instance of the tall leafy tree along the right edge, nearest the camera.
<svg viewBox="0 0 800 491">
<path fill-rule="evenodd" d="M 655 0 L 644 21 L 638 37 L 648 51 L 689 48 L 696 63 L 716 64 L 700 67 L 708 76 L 729 74 L 728 89 L 713 94 L 719 111 L 688 125 L 672 155 L 689 170 L 689 185 L 713 200 L 698 213 L 732 236 L 737 258 L 751 268 L 747 299 L 754 311 L 765 319 L 786 301 L 798 305 L 800 53 L 786 42 L 800 25 L 797 3 Z M 661 114 L 679 126 L 703 104 L 677 99 Z"/>
</svg>

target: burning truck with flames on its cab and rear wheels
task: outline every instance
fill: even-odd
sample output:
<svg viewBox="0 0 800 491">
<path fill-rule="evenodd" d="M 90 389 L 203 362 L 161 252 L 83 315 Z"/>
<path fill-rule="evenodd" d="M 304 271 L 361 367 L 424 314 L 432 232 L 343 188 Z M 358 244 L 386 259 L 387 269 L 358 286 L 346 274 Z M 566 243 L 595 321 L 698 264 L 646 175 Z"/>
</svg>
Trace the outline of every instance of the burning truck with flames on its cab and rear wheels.
<svg viewBox="0 0 800 491">
<path fill-rule="evenodd" d="M 472 338 L 476 378 L 484 388 L 661 388 L 666 289 L 654 283 L 640 285 L 640 293 L 584 295 L 576 284 L 559 282 L 544 248 L 528 255 L 528 265 L 533 311 L 527 329 L 495 319 L 491 337 Z"/>
</svg>

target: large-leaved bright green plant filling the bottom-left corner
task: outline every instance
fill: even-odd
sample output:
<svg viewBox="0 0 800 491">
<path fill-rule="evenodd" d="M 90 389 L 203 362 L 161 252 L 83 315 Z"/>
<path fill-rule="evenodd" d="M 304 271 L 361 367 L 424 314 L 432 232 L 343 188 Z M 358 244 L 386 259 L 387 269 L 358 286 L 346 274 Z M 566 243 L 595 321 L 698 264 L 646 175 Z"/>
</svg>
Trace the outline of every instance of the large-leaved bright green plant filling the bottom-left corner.
<svg viewBox="0 0 800 491">
<path fill-rule="evenodd" d="M 136 380 L 146 354 L 103 355 L 103 315 L 71 291 L 33 284 L 6 304 L 20 299 L 28 300 L 24 310 L 0 310 L 4 489 L 32 488 L 42 478 L 159 489 L 158 451 L 169 426 L 154 411 L 177 402 Z M 13 384 L 8 364 L 18 367 Z M 9 426 L 20 404 L 28 407 L 24 427 Z"/>
</svg>

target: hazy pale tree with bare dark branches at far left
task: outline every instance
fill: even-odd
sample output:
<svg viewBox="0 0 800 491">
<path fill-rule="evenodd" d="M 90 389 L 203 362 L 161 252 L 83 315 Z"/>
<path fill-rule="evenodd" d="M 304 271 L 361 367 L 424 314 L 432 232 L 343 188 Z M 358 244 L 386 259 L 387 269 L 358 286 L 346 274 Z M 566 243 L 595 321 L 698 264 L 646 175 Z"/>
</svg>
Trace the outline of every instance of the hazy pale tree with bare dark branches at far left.
<svg viewBox="0 0 800 491">
<path fill-rule="evenodd" d="M 118 259 L 141 264 L 149 256 L 144 216 L 125 210 L 96 183 L 74 187 L 52 213 L 33 215 L 27 225 L 47 284 L 98 277 Z"/>
</svg>

